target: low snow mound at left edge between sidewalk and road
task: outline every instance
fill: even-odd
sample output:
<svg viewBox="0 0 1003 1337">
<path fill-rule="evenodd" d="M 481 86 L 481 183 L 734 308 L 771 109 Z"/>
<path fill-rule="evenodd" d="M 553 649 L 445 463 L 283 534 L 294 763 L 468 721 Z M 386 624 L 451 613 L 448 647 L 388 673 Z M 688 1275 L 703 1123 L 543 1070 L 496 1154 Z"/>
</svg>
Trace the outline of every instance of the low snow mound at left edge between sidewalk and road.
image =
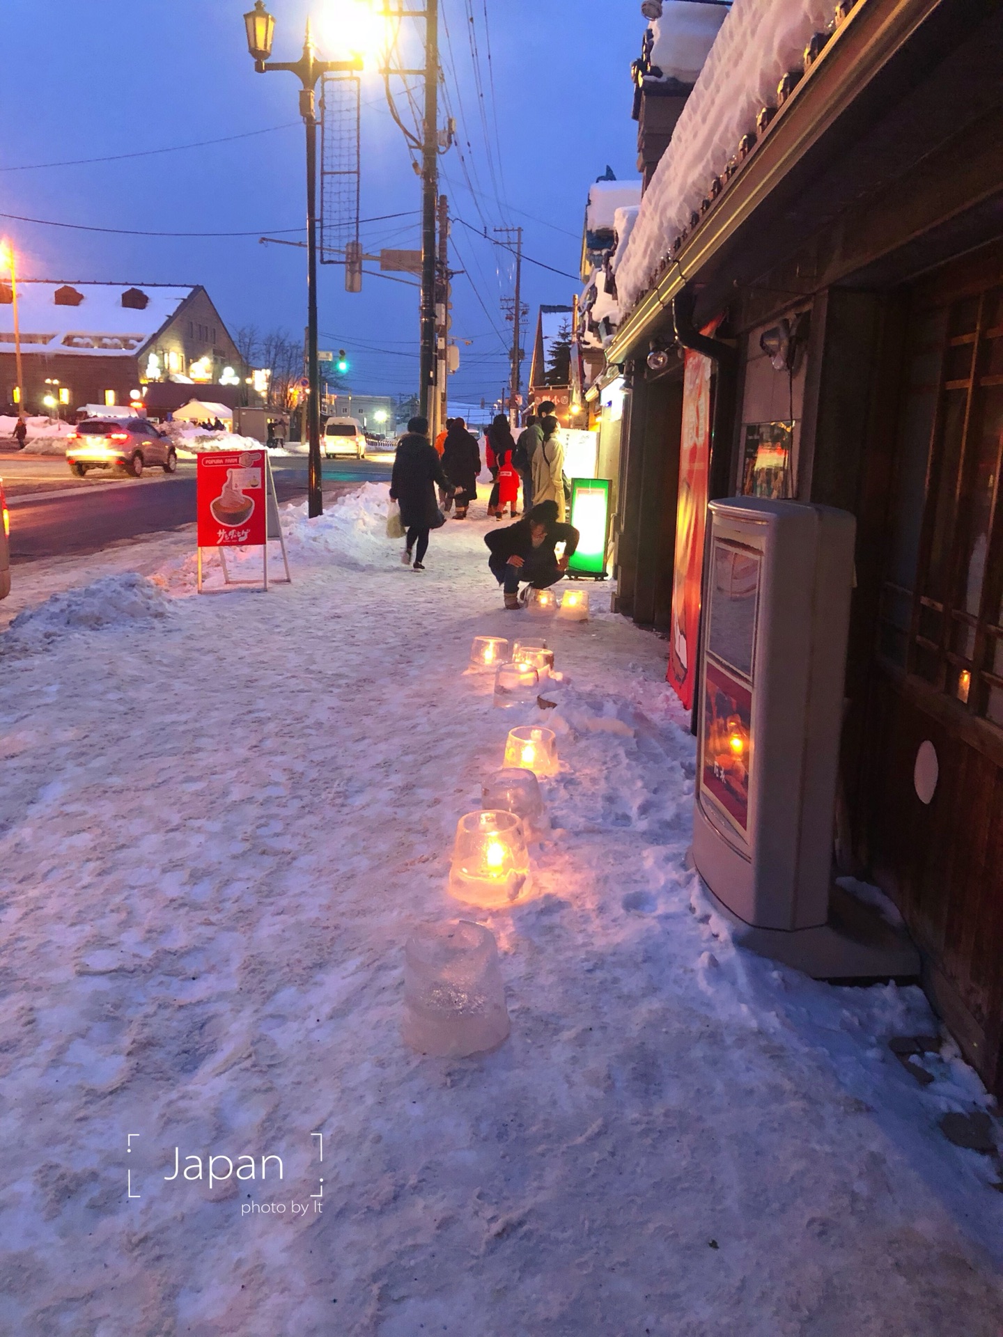
<svg viewBox="0 0 1003 1337">
<path fill-rule="evenodd" d="M 134 571 L 103 576 L 88 586 L 51 595 L 35 608 L 25 608 L 11 622 L 0 646 L 4 650 L 45 648 L 68 631 L 122 630 L 167 614 L 167 596 L 156 584 Z"/>
</svg>

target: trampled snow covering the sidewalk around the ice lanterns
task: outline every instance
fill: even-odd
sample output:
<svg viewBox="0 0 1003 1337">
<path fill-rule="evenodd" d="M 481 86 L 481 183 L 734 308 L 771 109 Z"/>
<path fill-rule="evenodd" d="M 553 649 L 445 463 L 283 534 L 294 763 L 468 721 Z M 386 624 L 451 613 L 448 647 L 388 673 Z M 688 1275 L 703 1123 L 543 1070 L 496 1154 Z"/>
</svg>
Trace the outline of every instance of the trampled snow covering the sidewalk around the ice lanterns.
<svg viewBox="0 0 1003 1337">
<path fill-rule="evenodd" d="M 469 642 L 540 627 L 484 521 L 421 576 L 385 507 L 286 511 L 267 596 L 195 598 L 187 535 L 23 568 L 0 1330 L 998 1337 L 1003 1194 L 936 1128 L 984 1092 L 950 1044 L 927 1087 L 889 1052 L 936 1025 L 917 989 L 736 952 L 663 646 L 610 614 L 548 627 L 554 838 L 535 898 L 477 916 L 511 1039 L 403 1047 L 404 940 L 457 913 L 455 824 L 518 722 Z"/>
</svg>

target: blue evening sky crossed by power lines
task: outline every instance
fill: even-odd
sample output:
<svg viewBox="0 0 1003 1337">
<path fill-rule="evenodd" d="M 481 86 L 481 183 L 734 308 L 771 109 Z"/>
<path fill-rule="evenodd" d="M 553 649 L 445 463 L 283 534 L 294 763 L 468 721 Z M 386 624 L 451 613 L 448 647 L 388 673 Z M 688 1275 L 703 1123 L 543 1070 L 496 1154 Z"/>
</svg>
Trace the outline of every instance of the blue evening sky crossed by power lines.
<svg viewBox="0 0 1003 1337">
<path fill-rule="evenodd" d="M 297 59 L 308 12 L 322 29 L 325 9 L 336 3 L 270 0 L 273 59 Z M 249 0 L 7 0 L 0 211 L 112 229 L 251 234 L 116 237 L 0 218 L 25 277 L 203 283 L 231 330 L 253 322 L 301 337 L 305 253 L 258 243 L 278 229 L 301 235 L 288 231 L 302 227 L 305 211 L 298 83 L 288 74 L 255 75 L 245 8 Z M 472 340 L 452 393 L 489 402 L 508 376 L 511 326 L 500 299 L 512 291 L 512 262 L 471 227 L 522 223 L 528 255 L 576 271 L 588 183 L 607 163 L 618 176 L 635 176 L 629 67 L 645 20 L 630 0 L 443 0 L 443 11 L 449 100 L 453 114 L 460 106 L 464 112 L 460 138 L 476 191 L 455 148 L 440 158 L 451 213 L 471 225 L 455 225 L 451 250 L 453 266 L 467 270 L 455 281 L 453 334 Z M 400 80 L 395 87 L 400 92 Z M 365 225 L 362 243 L 417 247 L 420 182 L 378 76 L 364 76 L 362 102 L 362 217 L 407 214 Z M 407 110 L 405 99 L 399 102 Z M 5 170 L 258 130 L 269 132 L 119 162 Z M 524 266 L 527 344 L 536 306 L 570 303 L 574 290 L 571 278 Z M 320 301 L 321 346 L 349 350 L 354 392 L 416 389 L 417 290 L 366 278 L 361 294 L 346 294 L 342 270 L 326 267 Z"/>
</svg>

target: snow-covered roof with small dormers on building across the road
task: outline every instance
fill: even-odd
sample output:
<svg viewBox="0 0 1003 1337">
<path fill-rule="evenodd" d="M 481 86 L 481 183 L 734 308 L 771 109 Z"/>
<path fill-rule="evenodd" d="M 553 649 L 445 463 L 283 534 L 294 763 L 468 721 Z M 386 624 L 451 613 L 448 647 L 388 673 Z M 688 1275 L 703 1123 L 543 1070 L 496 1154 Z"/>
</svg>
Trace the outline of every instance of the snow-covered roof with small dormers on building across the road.
<svg viewBox="0 0 1003 1337">
<path fill-rule="evenodd" d="M 132 283 L 20 279 L 17 321 L 21 352 L 135 357 L 194 291 L 194 287 L 166 283 L 143 283 L 139 287 Z M 4 295 L 9 295 L 9 289 Z M 0 350 L 9 352 L 12 348 L 13 305 L 0 301 Z"/>
</svg>

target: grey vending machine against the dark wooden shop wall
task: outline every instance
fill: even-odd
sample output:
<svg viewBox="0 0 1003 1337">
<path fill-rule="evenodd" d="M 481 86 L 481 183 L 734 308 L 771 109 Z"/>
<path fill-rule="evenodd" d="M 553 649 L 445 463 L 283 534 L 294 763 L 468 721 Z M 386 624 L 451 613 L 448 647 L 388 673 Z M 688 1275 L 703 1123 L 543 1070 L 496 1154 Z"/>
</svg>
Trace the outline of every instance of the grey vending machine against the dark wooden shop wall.
<svg viewBox="0 0 1003 1337">
<path fill-rule="evenodd" d="M 825 979 L 905 976 L 908 939 L 833 888 L 856 521 L 711 501 L 693 857 L 744 945 Z"/>
</svg>

